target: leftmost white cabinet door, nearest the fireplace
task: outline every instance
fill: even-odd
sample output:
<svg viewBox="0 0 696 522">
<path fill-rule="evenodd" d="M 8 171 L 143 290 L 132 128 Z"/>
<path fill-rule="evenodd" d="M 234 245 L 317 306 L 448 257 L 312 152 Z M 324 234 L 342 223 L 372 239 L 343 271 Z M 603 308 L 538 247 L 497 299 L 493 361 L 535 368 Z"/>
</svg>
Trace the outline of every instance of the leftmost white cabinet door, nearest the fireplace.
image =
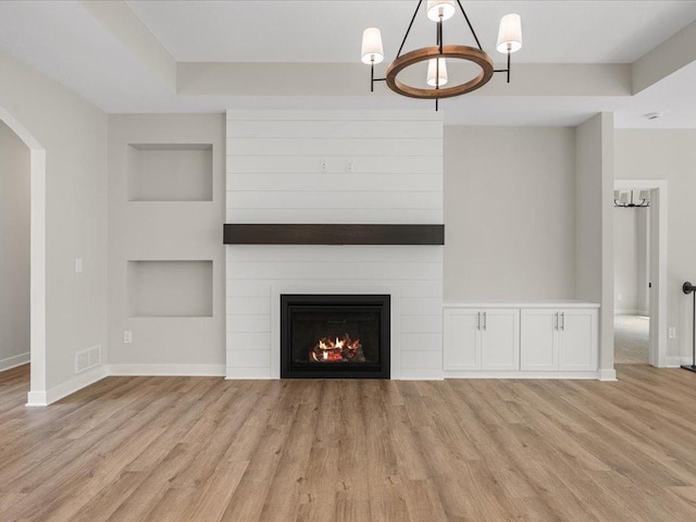
<svg viewBox="0 0 696 522">
<path fill-rule="evenodd" d="M 445 310 L 445 370 L 481 370 L 478 310 Z"/>
</svg>

